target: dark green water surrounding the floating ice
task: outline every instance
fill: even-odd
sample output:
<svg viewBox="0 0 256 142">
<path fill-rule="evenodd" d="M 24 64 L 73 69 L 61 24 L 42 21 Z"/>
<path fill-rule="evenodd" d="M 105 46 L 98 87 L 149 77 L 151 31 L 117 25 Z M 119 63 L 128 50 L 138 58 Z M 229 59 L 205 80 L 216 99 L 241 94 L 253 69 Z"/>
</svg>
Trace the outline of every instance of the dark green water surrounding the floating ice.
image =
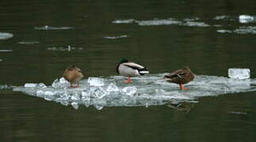
<svg viewBox="0 0 256 142">
<path fill-rule="evenodd" d="M 13 1 L 0 2 L 0 84 L 51 84 L 67 65 L 78 65 L 86 77 L 117 75 L 115 65 L 128 58 L 151 73 L 189 65 L 194 73 L 227 77 L 231 67 L 251 69 L 255 78 L 254 34 L 216 32 L 255 23 L 239 15 L 256 15 L 250 1 Z M 213 20 L 216 16 L 230 20 Z M 141 26 L 113 21 L 199 17 L 208 27 L 178 24 Z M 213 26 L 220 24 L 221 27 Z M 72 27 L 37 30 L 35 27 Z M 106 36 L 128 36 L 106 39 Z M 20 44 L 18 42 L 39 42 Z M 52 47 L 74 50 L 48 50 Z M 0 141 L 254 141 L 255 92 L 199 99 L 189 113 L 159 107 L 79 107 L 0 90 Z M 235 114 L 230 112 L 243 112 Z"/>
</svg>

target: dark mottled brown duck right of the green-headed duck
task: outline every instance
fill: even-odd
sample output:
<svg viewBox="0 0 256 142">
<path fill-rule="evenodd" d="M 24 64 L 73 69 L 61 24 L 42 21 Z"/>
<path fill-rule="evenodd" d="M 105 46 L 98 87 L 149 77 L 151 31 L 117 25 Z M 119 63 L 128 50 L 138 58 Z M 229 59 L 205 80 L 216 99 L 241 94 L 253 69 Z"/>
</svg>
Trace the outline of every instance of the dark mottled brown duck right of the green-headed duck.
<svg viewBox="0 0 256 142">
<path fill-rule="evenodd" d="M 181 90 L 185 90 L 183 84 L 187 84 L 192 81 L 195 77 L 195 74 L 191 72 L 189 67 L 185 67 L 185 69 L 178 69 L 173 73 L 166 75 L 164 78 L 168 82 L 172 82 L 180 85 Z"/>
</svg>

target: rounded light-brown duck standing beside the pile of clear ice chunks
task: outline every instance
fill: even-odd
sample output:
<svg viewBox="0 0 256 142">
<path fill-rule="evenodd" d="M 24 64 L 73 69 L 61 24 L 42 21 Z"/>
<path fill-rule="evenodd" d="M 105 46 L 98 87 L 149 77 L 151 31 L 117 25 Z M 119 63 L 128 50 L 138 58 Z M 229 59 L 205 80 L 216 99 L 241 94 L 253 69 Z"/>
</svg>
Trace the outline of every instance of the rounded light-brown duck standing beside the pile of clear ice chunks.
<svg viewBox="0 0 256 142">
<path fill-rule="evenodd" d="M 79 80 L 82 79 L 82 71 L 75 65 L 70 65 L 65 69 L 63 73 L 63 77 L 71 83 L 71 88 L 78 88 L 79 87 Z M 77 86 L 73 86 L 72 84 L 76 83 Z"/>
</svg>

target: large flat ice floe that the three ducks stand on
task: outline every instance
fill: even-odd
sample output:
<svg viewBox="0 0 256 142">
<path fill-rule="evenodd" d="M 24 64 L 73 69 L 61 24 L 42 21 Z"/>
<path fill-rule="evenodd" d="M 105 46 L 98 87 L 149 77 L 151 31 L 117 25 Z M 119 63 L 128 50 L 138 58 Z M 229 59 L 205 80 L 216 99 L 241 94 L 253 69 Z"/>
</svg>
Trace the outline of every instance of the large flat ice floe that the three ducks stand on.
<svg viewBox="0 0 256 142">
<path fill-rule="evenodd" d="M 254 92 L 256 79 L 236 80 L 227 77 L 197 76 L 186 84 L 188 90 L 181 91 L 177 84 L 163 80 L 166 73 L 151 74 L 132 78 L 131 84 L 124 84 L 124 77 L 90 77 L 80 82 L 80 88 L 69 88 L 67 80 L 56 79 L 52 86 L 45 84 L 25 84 L 13 91 L 24 92 L 55 101 L 64 106 L 95 107 L 150 107 L 172 102 L 191 102 L 203 96 L 227 93 Z"/>
</svg>

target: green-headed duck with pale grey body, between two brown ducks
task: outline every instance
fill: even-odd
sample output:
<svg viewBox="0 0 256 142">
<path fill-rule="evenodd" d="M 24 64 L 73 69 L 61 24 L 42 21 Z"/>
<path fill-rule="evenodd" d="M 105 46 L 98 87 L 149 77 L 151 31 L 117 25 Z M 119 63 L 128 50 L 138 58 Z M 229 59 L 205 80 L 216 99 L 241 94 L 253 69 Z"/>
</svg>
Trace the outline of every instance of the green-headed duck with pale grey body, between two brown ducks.
<svg viewBox="0 0 256 142">
<path fill-rule="evenodd" d="M 128 80 L 124 80 L 124 83 L 130 83 L 131 77 L 139 77 L 149 73 L 146 67 L 136 64 L 134 62 L 128 62 L 127 59 L 122 59 L 117 65 L 117 73 L 121 76 L 128 77 Z"/>
</svg>

